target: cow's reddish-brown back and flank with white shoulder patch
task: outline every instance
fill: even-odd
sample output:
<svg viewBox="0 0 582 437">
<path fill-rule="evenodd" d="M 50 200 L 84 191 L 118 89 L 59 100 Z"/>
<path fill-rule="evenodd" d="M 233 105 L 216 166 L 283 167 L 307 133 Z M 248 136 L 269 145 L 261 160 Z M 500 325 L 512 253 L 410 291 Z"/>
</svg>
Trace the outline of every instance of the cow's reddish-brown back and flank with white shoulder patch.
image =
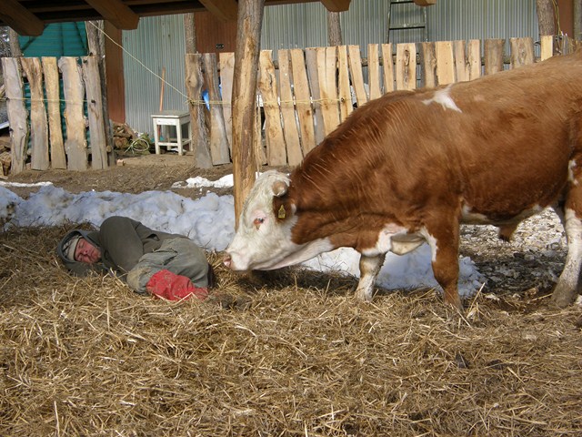
<svg viewBox="0 0 582 437">
<path fill-rule="evenodd" d="M 571 138 L 580 55 L 367 103 L 296 170 L 299 202 L 406 218 L 431 199 L 461 198 L 499 222 L 546 207 L 581 153 Z"/>
</svg>

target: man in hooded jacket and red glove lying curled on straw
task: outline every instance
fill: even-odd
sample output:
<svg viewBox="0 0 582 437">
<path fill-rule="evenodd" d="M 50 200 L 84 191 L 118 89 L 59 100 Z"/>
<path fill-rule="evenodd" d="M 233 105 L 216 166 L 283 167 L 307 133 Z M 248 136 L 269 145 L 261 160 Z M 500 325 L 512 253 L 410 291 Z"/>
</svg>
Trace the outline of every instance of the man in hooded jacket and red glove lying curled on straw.
<svg viewBox="0 0 582 437">
<path fill-rule="evenodd" d="M 72 230 L 56 252 L 75 276 L 113 270 L 135 292 L 167 300 L 205 300 L 214 285 L 212 266 L 191 239 L 126 217 L 105 219 L 98 231 Z"/>
</svg>

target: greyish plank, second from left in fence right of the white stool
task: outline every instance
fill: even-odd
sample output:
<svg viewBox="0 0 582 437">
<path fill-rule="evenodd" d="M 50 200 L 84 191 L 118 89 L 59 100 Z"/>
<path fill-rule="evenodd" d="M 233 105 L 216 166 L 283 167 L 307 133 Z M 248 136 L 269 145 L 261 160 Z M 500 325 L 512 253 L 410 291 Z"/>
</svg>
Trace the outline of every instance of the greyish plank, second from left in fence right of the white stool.
<svg viewBox="0 0 582 437">
<path fill-rule="evenodd" d="M 230 162 L 230 153 L 222 112 L 222 98 L 218 89 L 216 53 L 205 53 L 202 56 L 202 64 L 210 101 L 210 155 L 215 165 L 227 164 Z"/>
</svg>

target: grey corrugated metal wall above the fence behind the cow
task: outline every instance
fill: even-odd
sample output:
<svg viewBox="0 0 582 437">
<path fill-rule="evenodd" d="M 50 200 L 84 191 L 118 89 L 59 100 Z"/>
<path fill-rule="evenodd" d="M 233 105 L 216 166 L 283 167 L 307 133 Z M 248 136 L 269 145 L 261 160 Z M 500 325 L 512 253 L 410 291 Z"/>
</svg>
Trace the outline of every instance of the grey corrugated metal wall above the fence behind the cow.
<svg viewBox="0 0 582 437">
<path fill-rule="evenodd" d="M 389 2 L 352 0 L 340 15 L 344 44 L 362 47 L 367 56 L 368 43 L 386 43 Z M 425 8 L 394 5 L 393 24 L 423 20 Z M 508 38 L 531 36 L 537 39 L 536 0 L 438 0 L 426 7 L 428 41 L 456 39 Z M 420 29 L 390 33 L 391 43 L 424 41 Z M 266 49 L 326 46 L 326 8 L 321 3 L 276 5 L 265 8 L 261 47 Z"/>
</svg>

